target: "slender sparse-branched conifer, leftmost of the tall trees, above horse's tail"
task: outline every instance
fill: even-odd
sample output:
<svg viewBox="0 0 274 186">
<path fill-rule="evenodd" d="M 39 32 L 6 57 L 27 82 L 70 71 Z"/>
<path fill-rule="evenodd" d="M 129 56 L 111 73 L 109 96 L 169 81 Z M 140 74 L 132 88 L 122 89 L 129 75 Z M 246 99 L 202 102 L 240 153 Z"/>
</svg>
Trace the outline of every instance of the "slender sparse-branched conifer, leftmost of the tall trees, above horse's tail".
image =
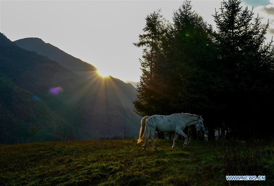
<svg viewBox="0 0 274 186">
<path fill-rule="evenodd" d="M 135 112 L 139 115 L 153 115 L 160 112 L 157 100 L 161 97 L 159 87 L 159 58 L 162 54 L 162 40 L 166 33 L 167 22 L 160 15 L 160 10 L 146 17 L 143 35 L 139 35 L 139 42 L 133 43 L 143 48 L 141 63 L 142 76 L 137 85 L 137 99 L 133 102 Z"/>
</svg>

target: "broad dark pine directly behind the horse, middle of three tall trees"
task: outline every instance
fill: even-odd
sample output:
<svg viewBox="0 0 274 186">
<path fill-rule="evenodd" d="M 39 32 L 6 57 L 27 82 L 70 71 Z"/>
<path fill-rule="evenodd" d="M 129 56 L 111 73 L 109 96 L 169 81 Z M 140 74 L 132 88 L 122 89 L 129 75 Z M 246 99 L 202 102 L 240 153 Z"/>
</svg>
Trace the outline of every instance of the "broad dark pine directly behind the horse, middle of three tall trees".
<svg viewBox="0 0 274 186">
<path fill-rule="evenodd" d="M 192 11 L 190 1 L 174 12 L 172 29 L 172 48 L 169 66 L 172 67 L 173 86 L 176 87 L 173 107 L 175 111 L 201 113 L 212 103 L 207 98 L 210 92 L 210 68 L 212 54 L 209 48 L 207 25 L 203 18 Z M 175 76 L 174 76 L 175 73 Z"/>
</svg>

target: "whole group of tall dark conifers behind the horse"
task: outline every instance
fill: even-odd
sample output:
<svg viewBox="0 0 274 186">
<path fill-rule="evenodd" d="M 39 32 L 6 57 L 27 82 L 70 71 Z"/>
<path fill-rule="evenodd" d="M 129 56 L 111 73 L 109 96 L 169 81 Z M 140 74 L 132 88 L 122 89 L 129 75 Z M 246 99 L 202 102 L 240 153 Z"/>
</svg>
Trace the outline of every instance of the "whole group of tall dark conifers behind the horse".
<svg viewBox="0 0 274 186">
<path fill-rule="evenodd" d="M 214 12 L 213 12 L 214 13 Z M 269 24 L 238 0 L 222 2 L 216 29 L 185 1 L 173 23 L 160 10 L 146 17 L 140 59 L 142 76 L 134 101 L 141 116 L 195 113 L 205 119 L 209 139 L 272 134 L 274 50 L 265 44 Z M 194 128 L 195 129 L 195 128 Z"/>
</svg>

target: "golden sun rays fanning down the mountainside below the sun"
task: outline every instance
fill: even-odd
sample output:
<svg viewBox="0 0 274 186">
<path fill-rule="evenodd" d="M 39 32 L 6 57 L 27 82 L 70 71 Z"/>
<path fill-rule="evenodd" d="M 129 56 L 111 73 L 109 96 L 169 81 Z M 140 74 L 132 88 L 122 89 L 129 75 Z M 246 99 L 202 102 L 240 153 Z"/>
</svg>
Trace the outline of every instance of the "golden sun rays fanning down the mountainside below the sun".
<svg viewBox="0 0 274 186">
<path fill-rule="evenodd" d="M 121 83 L 109 75 L 99 74 L 98 71 L 85 71 L 81 73 L 80 82 L 74 87 L 77 91 L 69 99 L 86 103 L 86 114 L 98 114 L 98 111 L 105 114 L 109 111 L 116 112 L 114 105 L 130 107 L 124 92 L 125 87 Z"/>
</svg>

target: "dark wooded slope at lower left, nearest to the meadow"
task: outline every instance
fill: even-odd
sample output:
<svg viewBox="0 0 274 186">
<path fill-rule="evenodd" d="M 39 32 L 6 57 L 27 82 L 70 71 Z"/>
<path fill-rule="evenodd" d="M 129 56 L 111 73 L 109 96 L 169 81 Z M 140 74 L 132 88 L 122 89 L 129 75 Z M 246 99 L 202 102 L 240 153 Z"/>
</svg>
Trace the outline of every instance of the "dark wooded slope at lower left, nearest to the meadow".
<svg viewBox="0 0 274 186">
<path fill-rule="evenodd" d="M 47 107 L 44 101 L 0 73 L 0 143 L 62 140 L 65 121 Z M 39 128 L 33 135 L 32 127 Z M 53 131 L 52 131 L 53 130 Z M 37 138 L 39 136 L 39 138 Z"/>
</svg>

